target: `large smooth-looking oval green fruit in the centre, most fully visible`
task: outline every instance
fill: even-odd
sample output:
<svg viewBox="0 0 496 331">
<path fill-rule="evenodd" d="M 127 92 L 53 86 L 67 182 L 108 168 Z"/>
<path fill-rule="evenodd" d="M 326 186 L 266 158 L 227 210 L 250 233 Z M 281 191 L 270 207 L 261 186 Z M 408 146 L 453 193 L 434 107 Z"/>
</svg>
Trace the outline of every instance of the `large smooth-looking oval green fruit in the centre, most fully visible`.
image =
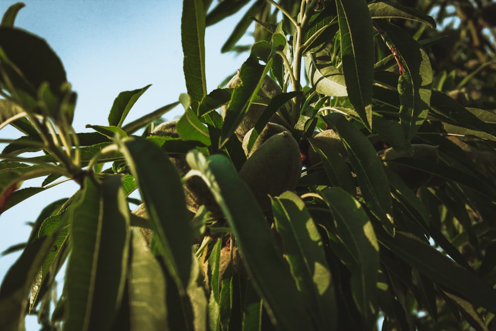
<svg viewBox="0 0 496 331">
<path fill-rule="evenodd" d="M 264 212 L 271 210 L 270 198 L 294 191 L 302 171 L 300 147 L 289 132 L 265 140 L 241 167 L 239 176 L 251 189 Z"/>
</svg>

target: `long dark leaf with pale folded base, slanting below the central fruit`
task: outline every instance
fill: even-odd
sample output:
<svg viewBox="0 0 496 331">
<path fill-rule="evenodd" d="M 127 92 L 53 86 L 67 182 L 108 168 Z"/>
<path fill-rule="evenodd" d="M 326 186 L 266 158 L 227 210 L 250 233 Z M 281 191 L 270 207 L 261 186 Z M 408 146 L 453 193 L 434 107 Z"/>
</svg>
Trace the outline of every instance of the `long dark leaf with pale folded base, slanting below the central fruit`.
<svg viewBox="0 0 496 331">
<path fill-rule="evenodd" d="M 236 237 L 250 281 L 269 314 L 282 330 L 306 330 L 310 318 L 289 267 L 276 249 L 260 206 L 229 159 L 220 154 L 205 158 L 193 150 L 186 155 L 186 161 L 192 170 L 201 173 L 220 205 Z"/>
</svg>

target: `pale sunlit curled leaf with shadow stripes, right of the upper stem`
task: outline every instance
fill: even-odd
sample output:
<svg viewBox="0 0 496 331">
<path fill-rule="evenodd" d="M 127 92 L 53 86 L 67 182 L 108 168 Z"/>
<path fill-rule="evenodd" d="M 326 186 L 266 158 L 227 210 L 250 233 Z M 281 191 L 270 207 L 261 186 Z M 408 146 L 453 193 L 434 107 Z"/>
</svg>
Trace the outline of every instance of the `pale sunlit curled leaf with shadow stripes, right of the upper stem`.
<svg viewBox="0 0 496 331">
<path fill-rule="evenodd" d="M 344 97 L 348 95 L 345 76 L 332 65 L 326 52 L 305 56 L 305 68 L 315 91 L 326 96 Z"/>
</svg>

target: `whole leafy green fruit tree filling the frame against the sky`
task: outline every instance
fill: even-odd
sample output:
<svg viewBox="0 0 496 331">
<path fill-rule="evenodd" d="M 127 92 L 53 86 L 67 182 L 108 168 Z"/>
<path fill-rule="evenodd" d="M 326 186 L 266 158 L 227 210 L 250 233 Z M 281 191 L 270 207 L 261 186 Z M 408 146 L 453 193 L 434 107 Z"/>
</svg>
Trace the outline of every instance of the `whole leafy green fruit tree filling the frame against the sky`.
<svg viewBox="0 0 496 331">
<path fill-rule="evenodd" d="M 124 91 L 93 133 L 71 126 L 61 60 L 14 27 L 22 4 L 4 14 L 1 121 L 22 136 L 1 153 L 1 208 L 59 178 L 80 189 L 40 211 L 1 330 L 26 314 L 71 331 L 492 330 L 493 3 L 212 2 L 183 2 L 187 94 L 125 123 L 147 87 Z M 222 51 L 248 59 L 207 91 L 204 29 L 245 6 Z M 439 47 L 428 13 L 450 8 L 459 38 Z"/>
</svg>

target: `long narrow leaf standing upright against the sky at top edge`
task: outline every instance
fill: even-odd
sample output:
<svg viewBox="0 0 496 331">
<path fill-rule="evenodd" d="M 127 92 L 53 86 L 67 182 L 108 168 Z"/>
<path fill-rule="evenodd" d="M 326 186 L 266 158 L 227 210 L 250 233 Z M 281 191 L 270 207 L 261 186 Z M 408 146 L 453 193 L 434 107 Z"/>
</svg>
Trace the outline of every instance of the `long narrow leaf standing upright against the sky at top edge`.
<svg viewBox="0 0 496 331">
<path fill-rule="evenodd" d="M 183 0 L 181 43 L 184 73 L 191 108 L 197 112 L 201 99 L 207 95 L 205 77 L 205 11 L 202 0 Z"/>
</svg>

